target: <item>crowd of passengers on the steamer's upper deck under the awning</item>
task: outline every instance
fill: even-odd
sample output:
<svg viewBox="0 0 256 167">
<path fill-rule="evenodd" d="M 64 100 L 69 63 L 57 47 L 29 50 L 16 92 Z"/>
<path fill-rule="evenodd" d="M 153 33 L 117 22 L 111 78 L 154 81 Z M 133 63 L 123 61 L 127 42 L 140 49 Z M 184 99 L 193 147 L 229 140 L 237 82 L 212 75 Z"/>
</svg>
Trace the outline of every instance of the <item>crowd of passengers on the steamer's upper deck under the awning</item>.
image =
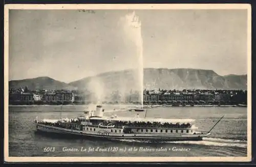
<svg viewBox="0 0 256 167">
<path fill-rule="evenodd" d="M 109 122 L 105 121 L 103 123 L 104 125 L 108 125 Z M 156 128 L 190 128 L 191 124 L 189 123 L 176 123 L 176 124 L 172 124 L 172 123 L 161 123 L 161 122 L 127 122 L 127 121 L 115 121 L 115 123 L 112 123 L 113 125 L 115 125 L 116 127 L 122 127 L 122 126 L 126 126 L 126 127 L 156 127 Z"/>
</svg>

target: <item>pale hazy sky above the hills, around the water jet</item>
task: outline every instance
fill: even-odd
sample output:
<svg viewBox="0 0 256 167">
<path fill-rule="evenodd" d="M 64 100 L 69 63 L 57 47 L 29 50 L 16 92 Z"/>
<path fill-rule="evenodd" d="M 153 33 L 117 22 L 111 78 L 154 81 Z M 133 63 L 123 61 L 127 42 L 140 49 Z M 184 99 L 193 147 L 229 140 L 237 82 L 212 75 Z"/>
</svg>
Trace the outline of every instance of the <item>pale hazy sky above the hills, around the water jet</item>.
<svg viewBox="0 0 256 167">
<path fill-rule="evenodd" d="M 131 10 L 11 10 L 9 80 L 71 82 L 140 66 L 124 33 Z M 247 73 L 246 10 L 135 10 L 144 68 Z M 133 37 L 133 36 L 132 36 Z M 134 35 L 140 38 L 140 35 Z"/>
</svg>

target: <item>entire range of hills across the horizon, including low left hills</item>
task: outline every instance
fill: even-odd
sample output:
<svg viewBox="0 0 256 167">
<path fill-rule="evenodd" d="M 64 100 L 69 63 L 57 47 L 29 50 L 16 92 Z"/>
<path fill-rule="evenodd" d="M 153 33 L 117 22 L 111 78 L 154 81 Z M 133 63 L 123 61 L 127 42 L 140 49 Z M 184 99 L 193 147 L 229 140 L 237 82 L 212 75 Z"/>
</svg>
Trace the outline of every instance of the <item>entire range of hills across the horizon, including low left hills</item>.
<svg viewBox="0 0 256 167">
<path fill-rule="evenodd" d="M 212 70 L 201 69 L 144 69 L 143 87 L 153 89 L 247 89 L 247 75 L 218 75 Z M 29 89 L 80 89 L 96 93 L 119 90 L 128 92 L 139 90 L 140 82 L 135 70 L 123 70 L 101 73 L 97 76 L 86 77 L 69 84 L 54 80 L 50 77 L 37 77 L 9 81 L 10 88 L 27 86 Z"/>
</svg>

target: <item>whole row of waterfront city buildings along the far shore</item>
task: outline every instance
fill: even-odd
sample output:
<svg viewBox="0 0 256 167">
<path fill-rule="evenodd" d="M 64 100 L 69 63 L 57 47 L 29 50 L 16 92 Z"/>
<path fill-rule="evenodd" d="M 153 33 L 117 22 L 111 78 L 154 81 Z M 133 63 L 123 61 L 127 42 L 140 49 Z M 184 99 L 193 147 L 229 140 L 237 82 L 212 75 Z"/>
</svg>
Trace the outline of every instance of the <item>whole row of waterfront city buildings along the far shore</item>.
<svg viewBox="0 0 256 167">
<path fill-rule="evenodd" d="M 76 95 L 74 95 L 76 92 Z M 9 102 L 12 104 L 31 102 L 42 103 L 97 103 L 99 100 L 105 103 L 138 103 L 140 102 L 140 92 L 134 91 L 130 93 L 121 93 L 118 91 L 108 94 L 108 97 L 98 97 L 95 93 L 91 92 L 77 92 L 65 90 L 35 90 L 29 91 L 28 89 L 9 89 Z M 143 101 L 145 103 L 173 103 L 173 102 L 191 102 L 195 103 L 211 103 L 211 101 L 218 101 L 221 103 L 246 103 L 247 91 L 243 90 L 144 90 Z M 31 104 L 32 104 L 31 103 Z"/>
</svg>

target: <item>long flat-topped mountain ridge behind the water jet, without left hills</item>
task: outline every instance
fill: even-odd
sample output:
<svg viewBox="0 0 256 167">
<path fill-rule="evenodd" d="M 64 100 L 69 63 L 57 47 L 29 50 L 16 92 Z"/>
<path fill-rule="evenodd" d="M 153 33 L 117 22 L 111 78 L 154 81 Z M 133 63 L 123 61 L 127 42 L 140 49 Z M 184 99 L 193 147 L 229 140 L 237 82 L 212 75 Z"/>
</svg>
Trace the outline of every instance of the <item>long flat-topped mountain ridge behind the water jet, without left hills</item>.
<svg viewBox="0 0 256 167">
<path fill-rule="evenodd" d="M 138 87 L 138 79 L 133 70 L 102 73 L 94 77 L 86 77 L 70 85 L 78 89 L 86 88 L 89 82 L 104 83 L 102 88 L 133 89 Z M 143 87 L 153 89 L 243 89 L 246 90 L 247 75 L 221 76 L 212 70 L 201 69 L 144 69 Z M 97 81 L 96 81 L 97 80 Z"/>
</svg>

